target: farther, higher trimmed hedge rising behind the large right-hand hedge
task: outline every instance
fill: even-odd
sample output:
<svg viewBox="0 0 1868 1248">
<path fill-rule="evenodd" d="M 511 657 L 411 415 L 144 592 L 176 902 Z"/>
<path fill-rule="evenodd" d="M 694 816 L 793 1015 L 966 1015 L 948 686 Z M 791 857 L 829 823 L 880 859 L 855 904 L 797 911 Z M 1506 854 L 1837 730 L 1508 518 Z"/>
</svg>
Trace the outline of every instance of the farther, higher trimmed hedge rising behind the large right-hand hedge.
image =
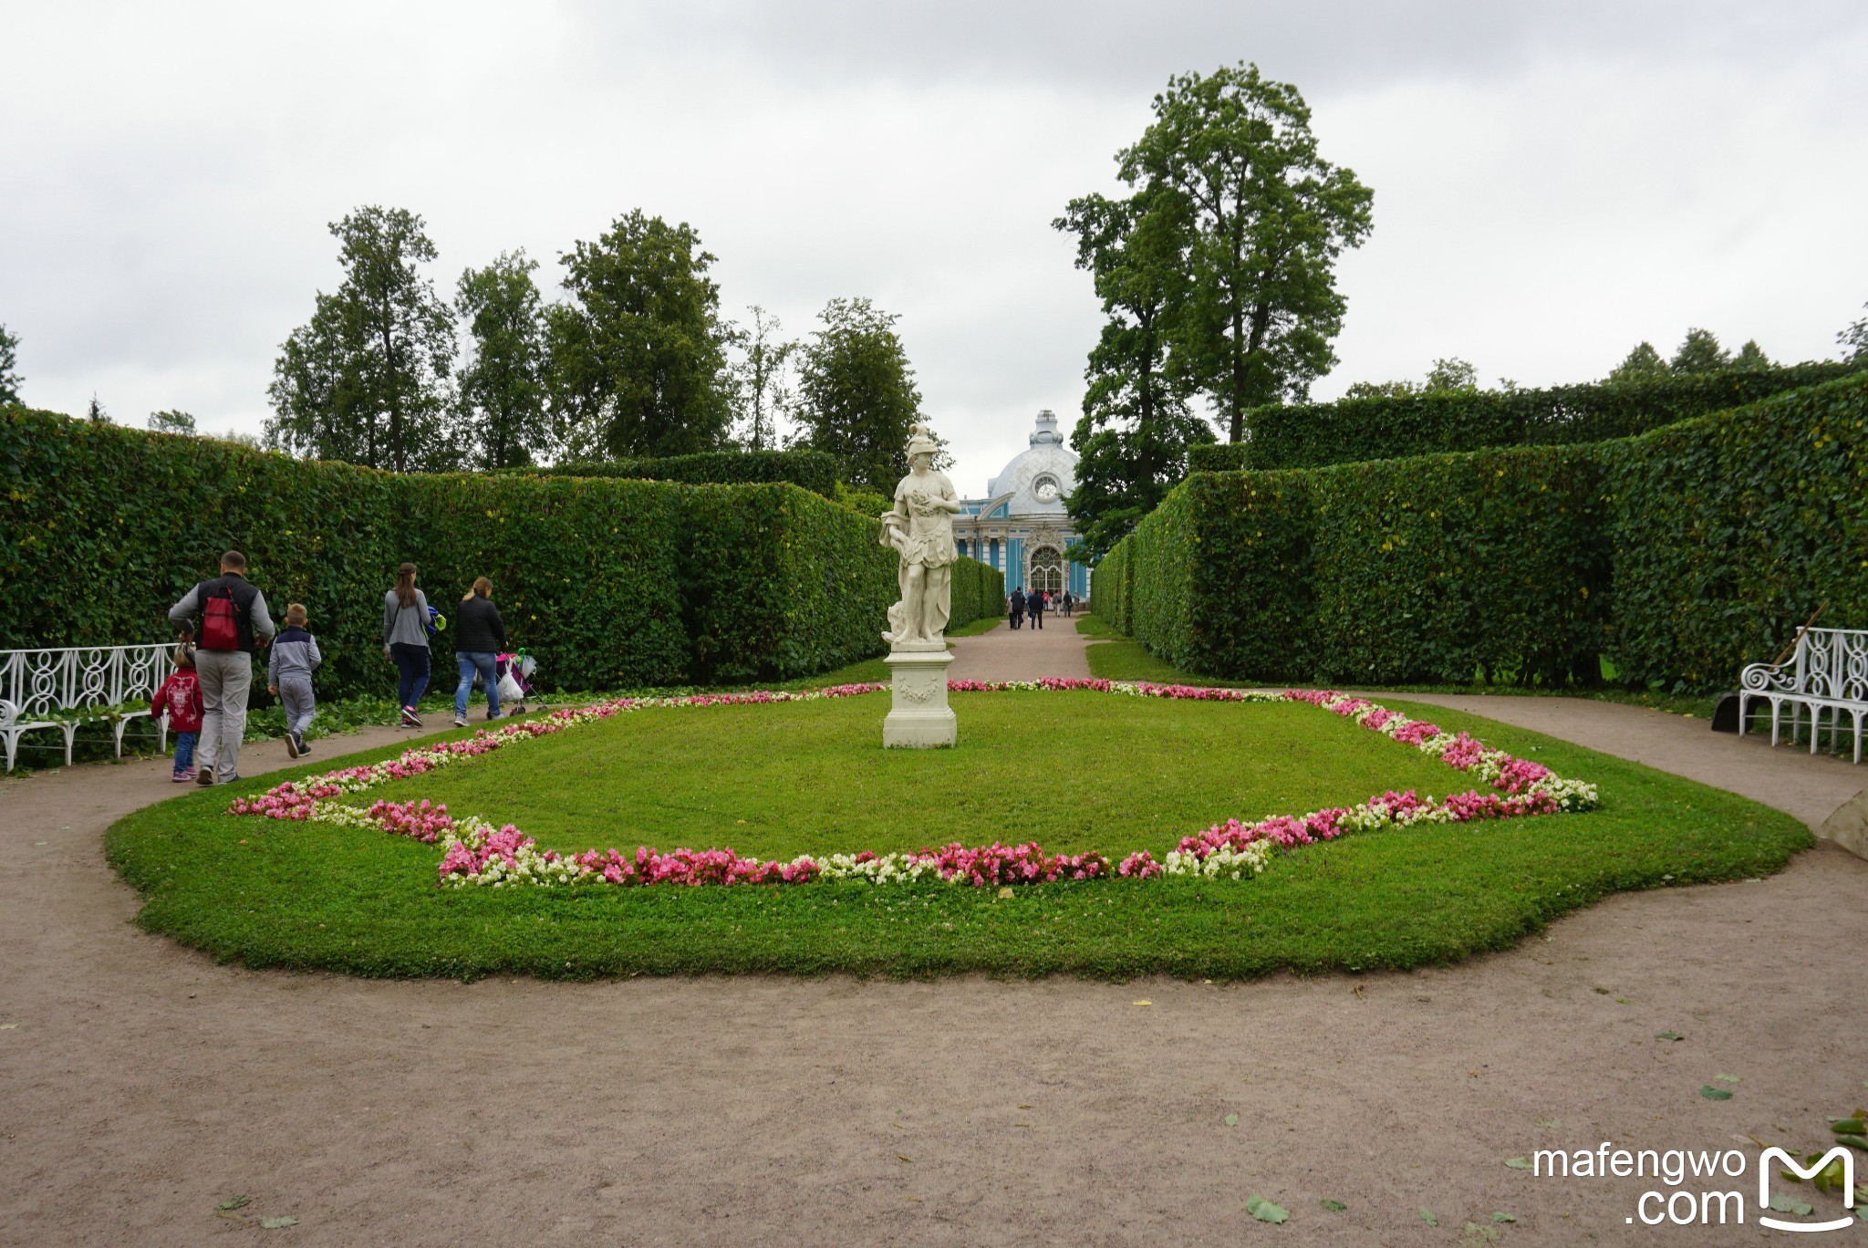
<svg viewBox="0 0 1868 1248">
<path fill-rule="evenodd" d="M 1575 445 L 1646 433 L 1692 417 L 1752 404 L 1857 372 L 1814 362 L 1756 372 L 1664 377 L 1640 385 L 1565 385 L 1549 390 L 1476 390 L 1345 398 L 1334 404 L 1253 407 L 1248 443 L 1194 447 L 1194 471 L 1323 467 L 1364 460 Z"/>
</svg>

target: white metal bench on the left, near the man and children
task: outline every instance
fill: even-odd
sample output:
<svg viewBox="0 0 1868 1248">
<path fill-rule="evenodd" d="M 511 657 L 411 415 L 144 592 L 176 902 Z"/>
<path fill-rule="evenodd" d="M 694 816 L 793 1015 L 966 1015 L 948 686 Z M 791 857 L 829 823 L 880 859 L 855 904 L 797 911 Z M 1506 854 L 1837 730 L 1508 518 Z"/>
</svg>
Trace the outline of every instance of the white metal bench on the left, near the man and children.
<svg viewBox="0 0 1868 1248">
<path fill-rule="evenodd" d="M 174 671 L 174 646 L 67 646 L 56 650 L 0 650 L 0 745 L 13 770 L 19 738 L 37 729 L 65 734 L 65 766 L 80 723 L 108 721 L 116 753 L 123 757 L 123 729 Z M 157 740 L 168 747 L 168 719 L 157 721 Z"/>
</svg>

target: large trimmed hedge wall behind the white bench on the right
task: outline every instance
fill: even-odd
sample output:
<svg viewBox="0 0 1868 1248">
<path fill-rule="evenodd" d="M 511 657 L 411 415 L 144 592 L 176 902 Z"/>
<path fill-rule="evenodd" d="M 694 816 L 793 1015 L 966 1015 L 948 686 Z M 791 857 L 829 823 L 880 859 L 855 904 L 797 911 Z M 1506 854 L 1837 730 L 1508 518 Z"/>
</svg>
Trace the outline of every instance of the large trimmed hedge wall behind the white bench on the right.
<svg viewBox="0 0 1868 1248">
<path fill-rule="evenodd" d="M 1097 568 L 1175 667 L 1730 688 L 1818 602 L 1868 626 L 1868 376 L 1640 437 L 1196 473 Z"/>
</svg>

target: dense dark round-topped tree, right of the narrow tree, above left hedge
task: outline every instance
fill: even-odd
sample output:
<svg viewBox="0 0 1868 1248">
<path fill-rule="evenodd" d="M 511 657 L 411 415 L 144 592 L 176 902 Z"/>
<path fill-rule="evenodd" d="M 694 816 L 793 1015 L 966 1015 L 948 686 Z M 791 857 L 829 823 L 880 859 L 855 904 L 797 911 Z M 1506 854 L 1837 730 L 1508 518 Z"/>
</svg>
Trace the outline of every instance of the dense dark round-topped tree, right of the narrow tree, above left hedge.
<svg viewBox="0 0 1868 1248">
<path fill-rule="evenodd" d="M 727 329 L 714 256 L 641 209 L 560 256 L 573 303 L 545 310 L 549 389 L 573 456 L 674 456 L 727 439 Z"/>
</svg>

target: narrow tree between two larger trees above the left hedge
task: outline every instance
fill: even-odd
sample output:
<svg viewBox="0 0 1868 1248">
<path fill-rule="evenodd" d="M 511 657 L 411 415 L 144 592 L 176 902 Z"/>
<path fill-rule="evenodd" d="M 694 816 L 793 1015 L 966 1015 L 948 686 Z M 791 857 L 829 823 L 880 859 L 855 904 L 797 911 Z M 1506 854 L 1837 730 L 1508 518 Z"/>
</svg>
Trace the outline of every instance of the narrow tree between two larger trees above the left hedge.
<svg viewBox="0 0 1868 1248">
<path fill-rule="evenodd" d="M 551 424 L 545 415 L 545 323 L 536 260 L 501 254 L 484 269 L 461 273 L 454 310 L 473 334 L 473 361 L 461 366 L 460 433 L 473 447 L 476 467 L 523 467 L 544 452 Z"/>
</svg>

